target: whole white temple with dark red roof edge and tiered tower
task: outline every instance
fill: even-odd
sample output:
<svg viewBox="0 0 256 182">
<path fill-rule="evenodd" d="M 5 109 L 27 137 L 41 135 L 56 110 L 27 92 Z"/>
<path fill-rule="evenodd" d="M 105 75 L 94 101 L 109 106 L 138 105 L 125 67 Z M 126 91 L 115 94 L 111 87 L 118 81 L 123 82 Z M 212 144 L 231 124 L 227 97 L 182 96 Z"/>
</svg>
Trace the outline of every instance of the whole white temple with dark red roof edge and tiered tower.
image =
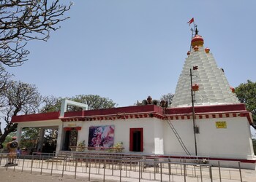
<svg viewBox="0 0 256 182">
<path fill-rule="evenodd" d="M 124 152 L 169 157 L 201 157 L 241 162 L 255 170 L 250 125 L 252 114 L 238 102 L 222 68 L 217 67 L 203 37 L 195 36 L 187 52 L 170 108 L 146 101 L 142 106 L 99 110 L 61 111 L 13 116 L 20 139 L 24 127 L 39 127 L 39 149 L 47 128 L 58 130 L 56 153 L 85 141 L 90 149 L 122 143 Z M 63 103 L 66 103 L 64 100 Z M 76 103 L 72 103 L 76 104 Z"/>
</svg>

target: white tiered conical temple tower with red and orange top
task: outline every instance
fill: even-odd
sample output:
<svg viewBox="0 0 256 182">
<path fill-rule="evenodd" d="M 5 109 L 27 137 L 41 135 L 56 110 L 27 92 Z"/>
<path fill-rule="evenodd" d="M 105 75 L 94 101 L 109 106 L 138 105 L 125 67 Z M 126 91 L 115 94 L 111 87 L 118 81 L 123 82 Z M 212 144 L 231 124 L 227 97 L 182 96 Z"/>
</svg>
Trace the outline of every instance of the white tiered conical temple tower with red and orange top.
<svg viewBox="0 0 256 182">
<path fill-rule="evenodd" d="M 187 55 L 183 70 L 178 79 L 172 107 L 192 106 L 190 69 L 192 85 L 197 87 L 195 106 L 239 103 L 230 89 L 224 70 L 218 68 L 209 48 L 203 47 L 203 37 L 196 34 L 191 41 L 192 50 Z M 193 67 L 197 66 L 197 69 Z"/>
</svg>

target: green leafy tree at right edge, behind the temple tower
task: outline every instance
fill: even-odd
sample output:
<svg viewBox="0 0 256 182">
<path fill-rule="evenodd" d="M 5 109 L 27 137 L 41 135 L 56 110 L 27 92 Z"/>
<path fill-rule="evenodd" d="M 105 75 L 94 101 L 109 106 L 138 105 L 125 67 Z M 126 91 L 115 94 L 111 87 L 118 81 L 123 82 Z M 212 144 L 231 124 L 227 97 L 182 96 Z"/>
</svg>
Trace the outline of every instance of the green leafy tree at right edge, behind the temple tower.
<svg viewBox="0 0 256 182">
<path fill-rule="evenodd" d="M 238 100 L 245 103 L 246 109 L 252 112 L 253 121 L 256 124 L 256 82 L 247 80 L 246 83 L 239 84 L 235 92 Z"/>
</svg>

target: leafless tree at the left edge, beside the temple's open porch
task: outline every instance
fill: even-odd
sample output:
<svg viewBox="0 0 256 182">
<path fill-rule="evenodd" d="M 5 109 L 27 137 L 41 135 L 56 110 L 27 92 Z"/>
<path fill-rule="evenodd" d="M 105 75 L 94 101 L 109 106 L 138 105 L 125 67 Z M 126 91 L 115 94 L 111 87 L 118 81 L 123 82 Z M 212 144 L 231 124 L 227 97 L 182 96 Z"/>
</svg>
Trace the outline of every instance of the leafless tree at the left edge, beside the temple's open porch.
<svg viewBox="0 0 256 182">
<path fill-rule="evenodd" d="M 7 84 L 8 87 L 1 97 L 1 114 L 6 127 L 4 132 L 0 132 L 0 148 L 7 135 L 17 128 L 17 123 L 11 122 L 12 116 L 36 113 L 41 102 L 41 95 L 33 84 L 13 81 Z"/>
</svg>

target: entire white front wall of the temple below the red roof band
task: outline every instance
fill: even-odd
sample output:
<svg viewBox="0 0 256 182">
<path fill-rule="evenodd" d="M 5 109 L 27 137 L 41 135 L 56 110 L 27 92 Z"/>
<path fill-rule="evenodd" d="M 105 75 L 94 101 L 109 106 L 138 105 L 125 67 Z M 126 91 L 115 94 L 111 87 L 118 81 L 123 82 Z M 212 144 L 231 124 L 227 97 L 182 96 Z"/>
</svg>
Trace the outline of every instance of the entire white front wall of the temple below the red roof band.
<svg viewBox="0 0 256 182">
<path fill-rule="evenodd" d="M 216 122 L 225 121 L 227 128 L 217 129 Z M 191 155 L 195 155 L 195 141 L 192 119 L 172 120 L 179 136 Z M 122 142 L 124 152 L 129 152 L 129 129 L 143 128 L 143 153 L 186 155 L 176 135 L 167 121 L 156 118 L 116 119 L 87 122 L 61 122 L 49 120 L 41 122 L 22 122 L 18 127 L 59 127 L 56 151 L 63 146 L 63 127 L 82 127 L 78 132 L 78 142 L 86 141 L 88 145 L 89 127 L 113 125 L 115 127 L 114 143 Z M 218 119 L 196 119 L 200 133 L 197 138 L 197 155 L 233 159 L 254 159 L 251 132 L 246 117 Z"/>
</svg>

